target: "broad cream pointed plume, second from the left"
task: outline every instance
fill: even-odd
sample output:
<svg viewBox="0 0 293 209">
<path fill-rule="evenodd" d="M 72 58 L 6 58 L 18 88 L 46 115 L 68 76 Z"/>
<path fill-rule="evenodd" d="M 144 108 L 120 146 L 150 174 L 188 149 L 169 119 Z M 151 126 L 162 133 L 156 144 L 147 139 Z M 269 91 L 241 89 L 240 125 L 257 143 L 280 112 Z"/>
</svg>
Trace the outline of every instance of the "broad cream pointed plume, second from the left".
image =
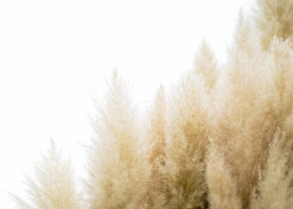
<svg viewBox="0 0 293 209">
<path fill-rule="evenodd" d="M 130 92 L 116 71 L 105 99 L 106 103 L 99 105 L 96 136 L 89 149 L 89 208 L 144 208 L 149 156 L 139 136 Z"/>
</svg>

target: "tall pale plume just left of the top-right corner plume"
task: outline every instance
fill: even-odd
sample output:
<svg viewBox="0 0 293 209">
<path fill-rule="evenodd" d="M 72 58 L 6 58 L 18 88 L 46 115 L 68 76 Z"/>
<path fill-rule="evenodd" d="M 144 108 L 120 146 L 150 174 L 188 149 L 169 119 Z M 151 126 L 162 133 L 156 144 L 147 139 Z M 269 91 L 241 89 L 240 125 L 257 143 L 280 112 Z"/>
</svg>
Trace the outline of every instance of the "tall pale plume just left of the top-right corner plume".
<svg viewBox="0 0 293 209">
<path fill-rule="evenodd" d="M 249 205 L 258 164 L 266 161 L 266 148 L 275 128 L 267 102 L 267 56 L 257 43 L 248 21 L 240 15 L 230 60 L 216 89 L 211 134 L 231 167 L 244 208 Z"/>
</svg>

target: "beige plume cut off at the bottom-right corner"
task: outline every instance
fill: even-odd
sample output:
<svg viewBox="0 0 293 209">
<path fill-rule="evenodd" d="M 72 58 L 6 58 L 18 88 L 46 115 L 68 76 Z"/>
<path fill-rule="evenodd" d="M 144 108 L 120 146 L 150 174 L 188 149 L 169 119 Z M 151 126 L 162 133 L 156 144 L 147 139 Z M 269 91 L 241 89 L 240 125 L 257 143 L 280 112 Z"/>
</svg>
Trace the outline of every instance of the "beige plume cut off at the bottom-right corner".
<svg viewBox="0 0 293 209">
<path fill-rule="evenodd" d="M 292 135 L 276 132 L 261 174 L 251 209 L 286 209 L 293 206 L 293 140 Z"/>
</svg>

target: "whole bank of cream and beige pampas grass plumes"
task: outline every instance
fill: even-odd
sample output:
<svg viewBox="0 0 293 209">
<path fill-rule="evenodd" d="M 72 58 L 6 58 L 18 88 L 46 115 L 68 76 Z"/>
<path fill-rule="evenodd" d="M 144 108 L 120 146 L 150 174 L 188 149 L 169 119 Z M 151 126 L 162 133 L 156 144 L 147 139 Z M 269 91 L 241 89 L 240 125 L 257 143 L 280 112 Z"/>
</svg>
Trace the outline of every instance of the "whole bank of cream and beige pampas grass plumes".
<svg viewBox="0 0 293 209">
<path fill-rule="evenodd" d="M 113 71 L 87 147 L 85 193 L 54 144 L 18 208 L 293 208 L 293 1 L 239 14 L 227 61 L 194 67 L 139 115 Z"/>
</svg>

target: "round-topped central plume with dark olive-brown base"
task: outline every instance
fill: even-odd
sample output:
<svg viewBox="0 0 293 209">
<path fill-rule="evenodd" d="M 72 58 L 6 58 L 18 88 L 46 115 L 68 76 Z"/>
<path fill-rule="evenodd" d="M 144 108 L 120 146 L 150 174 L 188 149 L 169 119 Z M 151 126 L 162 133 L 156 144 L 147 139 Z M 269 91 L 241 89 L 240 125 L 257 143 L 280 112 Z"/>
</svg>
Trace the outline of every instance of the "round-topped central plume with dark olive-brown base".
<svg viewBox="0 0 293 209">
<path fill-rule="evenodd" d="M 204 208 L 204 156 L 208 141 L 204 82 L 187 72 L 173 89 L 167 108 L 166 166 L 168 208 Z"/>
</svg>

